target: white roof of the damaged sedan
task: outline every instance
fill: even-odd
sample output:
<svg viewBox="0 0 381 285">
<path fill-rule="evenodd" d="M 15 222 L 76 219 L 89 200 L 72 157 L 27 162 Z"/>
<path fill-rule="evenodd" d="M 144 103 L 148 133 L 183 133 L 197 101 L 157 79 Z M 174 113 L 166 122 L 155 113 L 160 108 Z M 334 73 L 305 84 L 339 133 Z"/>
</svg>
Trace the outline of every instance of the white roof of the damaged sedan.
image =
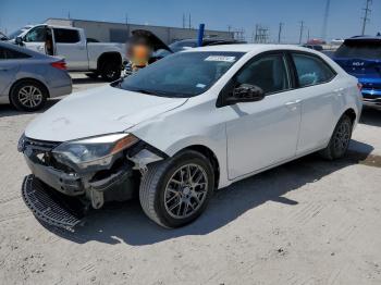
<svg viewBox="0 0 381 285">
<path fill-rule="evenodd" d="M 309 52 L 315 54 L 321 54 L 320 52 L 311 49 L 293 46 L 293 45 L 266 45 L 266 44 L 238 44 L 238 45 L 220 45 L 220 46 L 206 46 L 200 48 L 188 49 L 183 52 L 196 52 L 196 51 L 223 51 L 223 52 L 253 52 L 259 53 L 265 51 L 275 50 L 295 50 Z"/>
</svg>

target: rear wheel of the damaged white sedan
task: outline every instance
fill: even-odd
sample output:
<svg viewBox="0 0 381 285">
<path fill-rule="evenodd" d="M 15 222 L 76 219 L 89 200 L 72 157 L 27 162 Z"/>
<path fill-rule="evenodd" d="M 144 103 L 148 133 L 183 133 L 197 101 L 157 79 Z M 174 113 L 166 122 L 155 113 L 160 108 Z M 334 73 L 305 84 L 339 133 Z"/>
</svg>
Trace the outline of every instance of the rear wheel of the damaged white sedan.
<svg viewBox="0 0 381 285">
<path fill-rule="evenodd" d="M 320 156 L 327 160 L 343 158 L 349 147 L 352 131 L 353 122 L 344 114 L 335 126 L 328 147 L 319 152 Z"/>
</svg>

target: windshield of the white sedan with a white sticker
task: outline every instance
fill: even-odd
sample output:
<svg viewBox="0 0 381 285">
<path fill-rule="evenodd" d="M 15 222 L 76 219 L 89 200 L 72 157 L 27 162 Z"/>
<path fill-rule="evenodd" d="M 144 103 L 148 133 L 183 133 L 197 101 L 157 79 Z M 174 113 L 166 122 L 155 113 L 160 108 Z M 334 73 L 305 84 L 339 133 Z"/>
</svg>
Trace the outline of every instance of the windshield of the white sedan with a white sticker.
<svg viewBox="0 0 381 285">
<path fill-rule="evenodd" d="M 164 97 L 188 98 L 208 90 L 244 53 L 180 52 L 126 77 L 121 88 Z"/>
</svg>

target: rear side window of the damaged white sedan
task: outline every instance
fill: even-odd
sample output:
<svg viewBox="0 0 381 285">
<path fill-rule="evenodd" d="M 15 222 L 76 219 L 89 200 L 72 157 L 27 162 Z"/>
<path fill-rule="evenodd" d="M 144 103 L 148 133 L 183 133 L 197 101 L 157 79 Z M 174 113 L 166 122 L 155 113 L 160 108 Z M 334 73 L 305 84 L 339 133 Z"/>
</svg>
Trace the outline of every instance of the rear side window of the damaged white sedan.
<svg viewBox="0 0 381 285">
<path fill-rule="evenodd" d="M 317 57 L 302 53 L 293 53 L 292 57 L 299 87 L 327 83 L 336 75 L 323 60 Z"/>
</svg>

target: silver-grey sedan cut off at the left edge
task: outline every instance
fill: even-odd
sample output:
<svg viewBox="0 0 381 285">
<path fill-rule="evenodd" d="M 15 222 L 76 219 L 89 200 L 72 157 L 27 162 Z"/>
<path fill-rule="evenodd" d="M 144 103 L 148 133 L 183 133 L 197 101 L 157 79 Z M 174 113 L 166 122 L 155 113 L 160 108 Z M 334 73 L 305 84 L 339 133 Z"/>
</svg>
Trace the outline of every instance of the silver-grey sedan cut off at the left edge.
<svg viewBox="0 0 381 285">
<path fill-rule="evenodd" d="M 71 94 L 72 79 L 60 58 L 0 42 L 0 103 L 36 111 L 48 98 Z"/>
</svg>

